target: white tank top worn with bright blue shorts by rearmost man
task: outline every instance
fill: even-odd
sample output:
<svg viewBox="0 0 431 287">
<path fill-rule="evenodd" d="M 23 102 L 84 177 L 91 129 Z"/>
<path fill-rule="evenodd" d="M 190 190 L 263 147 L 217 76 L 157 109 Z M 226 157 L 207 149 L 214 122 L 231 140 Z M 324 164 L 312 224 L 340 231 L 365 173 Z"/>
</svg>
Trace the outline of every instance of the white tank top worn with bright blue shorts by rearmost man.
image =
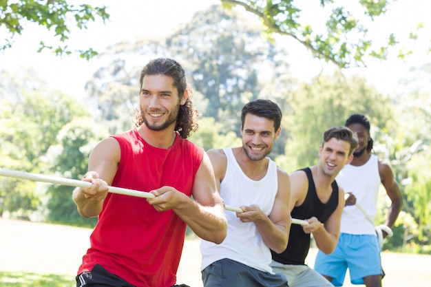
<svg viewBox="0 0 431 287">
<path fill-rule="evenodd" d="M 346 164 L 338 173 L 337 183 L 344 192 L 352 192 L 356 202 L 375 220 L 377 213 L 377 195 L 379 194 L 380 175 L 379 158 L 371 155 L 370 159 L 359 167 Z M 341 215 L 341 233 L 375 235 L 375 224 L 366 219 L 357 206 L 345 206 Z"/>
</svg>

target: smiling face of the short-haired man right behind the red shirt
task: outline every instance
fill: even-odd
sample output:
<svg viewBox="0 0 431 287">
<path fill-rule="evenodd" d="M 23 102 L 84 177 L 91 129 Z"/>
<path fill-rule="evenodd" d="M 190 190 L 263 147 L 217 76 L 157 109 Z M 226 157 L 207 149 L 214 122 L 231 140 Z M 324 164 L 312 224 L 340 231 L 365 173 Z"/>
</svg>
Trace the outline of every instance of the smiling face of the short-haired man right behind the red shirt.
<svg viewBox="0 0 431 287">
<path fill-rule="evenodd" d="M 280 136 L 281 128 L 274 129 L 274 121 L 268 118 L 246 114 L 241 127 L 242 149 L 250 160 L 262 160 L 271 153 L 274 141 Z"/>
</svg>

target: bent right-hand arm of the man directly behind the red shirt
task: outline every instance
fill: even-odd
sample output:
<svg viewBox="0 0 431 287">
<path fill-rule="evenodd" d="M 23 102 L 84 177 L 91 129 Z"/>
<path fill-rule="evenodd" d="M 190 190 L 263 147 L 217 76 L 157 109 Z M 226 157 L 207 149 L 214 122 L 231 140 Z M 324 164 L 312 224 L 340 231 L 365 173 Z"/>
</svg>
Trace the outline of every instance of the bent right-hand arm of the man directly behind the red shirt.
<svg viewBox="0 0 431 287">
<path fill-rule="evenodd" d="M 255 205 L 241 206 L 244 213 L 238 213 L 237 216 L 242 222 L 254 222 L 266 246 L 277 253 L 282 253 L 287 247 L 292 223 L 288 209 L 291 200 L 291 180 L 282 169 L 277 169 L 277 178 L 277 195 L 269 216 Z"/>
</svg>

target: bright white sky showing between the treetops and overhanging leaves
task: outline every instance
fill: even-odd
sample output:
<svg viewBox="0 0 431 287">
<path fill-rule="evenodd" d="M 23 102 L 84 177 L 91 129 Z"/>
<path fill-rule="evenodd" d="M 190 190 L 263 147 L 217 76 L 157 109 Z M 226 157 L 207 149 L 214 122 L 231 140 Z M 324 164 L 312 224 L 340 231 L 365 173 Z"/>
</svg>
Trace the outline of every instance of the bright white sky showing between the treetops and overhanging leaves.
<svg viewBox="0 0 431 287">
<path fill-rule="evenodd" d="M 78 1 L 71 1 L 78 3 Z M 219 0 L 105 0 L 92 1 L 92 5 L 98 3 L 108 7 L 110 19 L 104 25 L 102 21 L 90 23 L 87 30 L 74 30 L 70 34 L 71 47 L 93 47 L 95 50 L 103 50 L 107 45 L 119 41 L 134 41 L 143 36 L 163 36 L 173 32 L 180 23 L 190 21 L 193 14 L 203 10 Z M 344 5 L 355 7 L 357 1 L 344 0 Z M 309 4 L 309 3 L 308 3 Z M 304 1 L 297 1 L 297 5 Z M 312 6 L 306 7 L 309 21 L 319 19 L 321 9 Z M 407 37 L 410 30 L 416 28 L 419 21 L 425 23 L 425 29 L 421 32 L 421 40 L 414 44 L 414 54 L 406 63 L 391 58 L 390 61 L 368 61 L 368 66 L 363 68 L 349 68 L 344 70 L 347 75 L 360 75 L 367 78 L 370 85 L 374 85 L 379 92 L 388 94 L 393 92 L 397 81 L 402 78 L 409 67 L 430 63 L 431 55 L 426 54 L 427 47 L 431 47 L 431 1 L 426 0 L 399 0 L 390 6 L 390 10 L 384 17 L 379 17 L 372 23 L 370 33 L 375 40 L 383 38 L 388 31 L 399 32 Z M 250 14 L 251 16 L 251 14 Z M 52 52 L 36 52 L 39 41 L 50 41 L 52 33 L 47 32 L 37 25 L 27 25 L 23 34 L 14 37 L 14 45 L 6 52 L 0 53 L 0 69 L 21 73 L 23 70 L 32 69 L 41 76 L 50 89 L 59 89 L 65 94 L 83 98 L 85 96 L 85 82 L 91 78 L 98 68 L 97 61 L 90 62 L 80 59 L 77 55 L 58 57 Z M 334 68 L 331 65 L 314 59 L 311 52 L 305 47 L 287 36 L 277 36 L 281 45 L 288 45 L 291 74 L 301 81 L 311 81 L 319 73 L 331 73 Z M 403 41 L 407 41 L 404 39 Z M 143 63 L 145 65 L 145 63 Z M 137 75 L 138 76 L 138 75 Z"/>
</svg>

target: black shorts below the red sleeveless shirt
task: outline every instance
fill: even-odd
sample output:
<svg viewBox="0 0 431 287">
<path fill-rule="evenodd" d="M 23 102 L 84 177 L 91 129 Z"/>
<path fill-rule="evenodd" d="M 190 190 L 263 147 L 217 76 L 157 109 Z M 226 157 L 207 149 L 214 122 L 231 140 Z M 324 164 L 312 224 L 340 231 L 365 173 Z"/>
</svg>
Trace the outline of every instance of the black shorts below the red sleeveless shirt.
<svg viewBox="0 0 431 287">
<path fill-rule="evenodd" d="M 136 287 L 125 279 L 110 273 L 100 264 L 96 264 L 90 272 L 83 272 L 76 276 L 76 287 Z M 172 287 L 189 287 L 186 284 Z"/>
</svg>

